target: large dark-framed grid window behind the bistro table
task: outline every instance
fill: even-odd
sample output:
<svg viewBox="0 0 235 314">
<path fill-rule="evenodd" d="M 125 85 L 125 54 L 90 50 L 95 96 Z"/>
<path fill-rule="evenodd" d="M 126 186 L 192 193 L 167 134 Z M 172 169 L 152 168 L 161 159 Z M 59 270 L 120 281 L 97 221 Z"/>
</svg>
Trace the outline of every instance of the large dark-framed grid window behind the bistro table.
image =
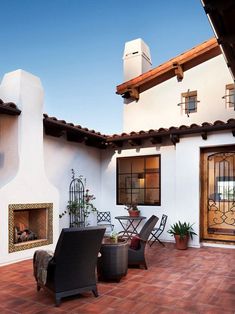
<svg viewBox="0 0 235 314">
<path fill-rule="evenodd" d="M 160 205 L 160 155 L 117 158 L 117 204 Z"/>
</svg>

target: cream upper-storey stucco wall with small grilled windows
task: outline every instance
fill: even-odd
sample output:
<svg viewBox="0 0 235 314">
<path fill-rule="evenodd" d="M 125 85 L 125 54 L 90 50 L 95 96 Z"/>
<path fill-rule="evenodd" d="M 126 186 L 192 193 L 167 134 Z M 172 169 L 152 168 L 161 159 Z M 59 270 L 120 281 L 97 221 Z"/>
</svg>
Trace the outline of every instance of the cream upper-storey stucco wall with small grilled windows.
<svg viewBox="0 0 235 314">
<path fill-rule="evenodd" d="M 170 126 L 201 124 L 235 117 L 233 108 L 225 107 L 225 85 L 233 83 L 222 55 L 184 72 L 177 82 L 173 77 L 140 93 L 139 101 L 124 105 L 123 131 L 140 131 Z M 198 110 L 189 117 L 177 106 L 181 93 L 197 91 Z"/>
</svg>

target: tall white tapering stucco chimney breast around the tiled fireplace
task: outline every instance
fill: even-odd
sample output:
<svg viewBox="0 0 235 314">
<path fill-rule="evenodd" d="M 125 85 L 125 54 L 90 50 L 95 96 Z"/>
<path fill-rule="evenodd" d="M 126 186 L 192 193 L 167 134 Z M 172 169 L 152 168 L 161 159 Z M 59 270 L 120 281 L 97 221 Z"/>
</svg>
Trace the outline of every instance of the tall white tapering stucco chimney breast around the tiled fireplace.
<svg viewBox="0 0 235 314">
<path fill-rule="evenodd" d="M 5 178 L 0 184 L 0 220 L 4 222 L 0 230 L 1 256 L 0 264 L 23 258 L 32 257 L 32 250 L 26 250 L 20 254 L 17 252 L 9 254 L 8 247 L 8 218 L 9 207 L 20 204 L 21 207 L 28 209 L 29 204 L 34 207 L 38 204 L 39 208 L 44 205 L 53 206 L 53 235 L 51 238 L 58 237 L 58 203 L 59 194 L 57 189 L 48 180 L 44 168 L 43 152 L 43 99 L 44 91 L 38 77 L 23 71 L 17 70 L 4 75 L 0 85 L 0 98 L 4 102 L 14 102 L 21 110 L 21 114 L 14 119 L 16 131 L 14 137 L 9 137 L 11 141 L 8 146 L 16 147 L 17 167 L 14 175 Z M 4 118 L 1 118 L 4 119 Z M 11 132 L 11 125 L 4 124 L 4 136 Z M 6 147 L 1 147 L 2 155 L 6 153 Z M 4 160 L 4 159 L 3 159 Z M 10 173 L 9 163 L 1 165 L 1 171 Z M 9 224 L 11 222 L 9 221 Z M 11 236 L 11 235 L 10 235 Z M 49 249 L 53 248 L 50 242 Z"/>
</svg>

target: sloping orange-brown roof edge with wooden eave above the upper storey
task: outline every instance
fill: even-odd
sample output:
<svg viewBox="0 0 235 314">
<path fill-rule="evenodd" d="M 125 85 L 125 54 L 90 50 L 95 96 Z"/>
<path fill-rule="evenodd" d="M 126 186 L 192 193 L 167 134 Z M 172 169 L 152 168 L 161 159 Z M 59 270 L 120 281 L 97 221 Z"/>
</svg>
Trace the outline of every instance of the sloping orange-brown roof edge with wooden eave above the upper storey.
<svg viewBox="0 0 235 314">
<path fill-rule="evenodd" d="M 221 49 L 215 38 L 211 38 L 202 44 L 170 59 L 169 61 L 159 65 L 158 67 L 143 73 L 127 82 L 116 87 L 116 93 L 124 95 L 130 89 L 138 89 L 141 93 L 167 79 L 176 75 L 175 66 L 180 65 L 183 71 L 187 71 L 192 67 L 205 62 L 215 56 L 221 54 Z"/>
</svg>

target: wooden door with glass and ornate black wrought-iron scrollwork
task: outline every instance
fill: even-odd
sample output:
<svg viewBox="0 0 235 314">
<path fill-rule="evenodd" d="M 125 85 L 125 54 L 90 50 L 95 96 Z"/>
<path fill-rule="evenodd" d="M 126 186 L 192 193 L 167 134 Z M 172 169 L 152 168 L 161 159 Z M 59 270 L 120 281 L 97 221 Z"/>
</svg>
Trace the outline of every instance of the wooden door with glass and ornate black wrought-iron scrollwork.
<svg viewBox="0 0 235 314">
<path fill-rule="evenodd" d="M 201 151 L 201 239 L 235 242 L 235 147 Z"/>
</svg>

